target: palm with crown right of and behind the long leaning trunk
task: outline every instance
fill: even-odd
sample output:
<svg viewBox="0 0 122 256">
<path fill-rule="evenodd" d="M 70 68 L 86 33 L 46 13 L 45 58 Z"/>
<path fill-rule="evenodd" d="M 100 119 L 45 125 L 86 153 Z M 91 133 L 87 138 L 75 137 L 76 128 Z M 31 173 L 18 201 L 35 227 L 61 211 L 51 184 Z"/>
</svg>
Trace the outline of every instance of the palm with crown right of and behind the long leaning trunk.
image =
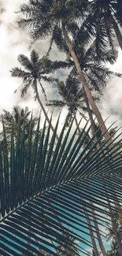
<svg viewBox="0 0 122 256">
<path fill-rule="evenodd" d="M 72 32 L 74 35 L 74 32 Z M 81 69 L 83 70 L 83 74 L 87 80 L 87 84 L 89 84 L 89 88 L 91 89 L 92 96 L 95 100 L 99 100 L 100 96 L 103 94 L 103 90 L 109 80 L 109 78 L 113 76 L 121 76 L 120 73 L 111 72 L 109 69 L 105 67 L 105 63 L 109 62 L 113 64 L 117 58 L 116 50 L 104 50 L 100 49 L 101 52 L 100 56 L 96 54 L 95 50 L 95 42 L 96 39 L 92 40 L 91 44 L 84 42 L 84 39 L 79 36 L 79 28 L 77 28 L 76 36 L 74 35 L 73 38 L 73 46 L 76 49 L 76 55 L 78 56 L 79 64 Z M 76 77 L 77 70 L 72 61 L 72 58 L 68 55 L 68 61 L 72 65 L 72 70 L 70 72 L 70 76 Z M 95 95 L 97 93 L 97 95 Z M 96 126 L 94 124 L 94 120 L 92 117 L 91 108 L 89 106 L 89 102 L 87 99 L 86 92 L 83 89 L 84 101 L 87 105 L 87 112 L 89 114 L 91 120 L 91 130 L 92 135 L 96 132 Z"/>
</svg>

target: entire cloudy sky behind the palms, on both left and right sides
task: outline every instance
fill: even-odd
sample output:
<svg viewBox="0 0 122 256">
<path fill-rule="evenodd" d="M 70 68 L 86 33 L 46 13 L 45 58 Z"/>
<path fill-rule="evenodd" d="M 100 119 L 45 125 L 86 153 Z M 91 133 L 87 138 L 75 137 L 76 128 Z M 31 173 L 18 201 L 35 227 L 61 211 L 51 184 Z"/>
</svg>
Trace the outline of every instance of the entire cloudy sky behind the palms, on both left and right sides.
<svg viewBox="0 0 122 256">
<path fill-rule="evenodd" d="M 15 13 L 19 10 L 21 0 L 4 0 L 0 2 L 0 113 L 2 109 L 12 110 L 14 105 L 28 106 L 33 109 L 35 115 L 39 115 L 39 103 L 33 99 L 33 93 L 30 90 L 28 95 L 20 98 L 20 92 L 14 94 L 14 91 L 21 84 L 21 81 L 10 76 L 9 70 L 18 66 L 18 54 L 25 54 L 29 57 L 31 43 L 28 31 L 20 30 L 17 25 L 19 14 Z M 35 49 L 39 52 L 40 56 L 46 53 L 48 42 L 41 40 L 35 44 Z M 122 73 L 122 51 L 119 50 L 118 59 L 116 64 L 110 66 L 115 72 Z M 65 60 L 64 54 L 59 54 L 56 47 L 53 53 L 54 59 Z M 62 76 L 62 74 L 60 74 Z M 56 89 L 52 89 L 51 85 L 44 84 L 46 88 L 47 98 L 54 98 L 57 94 Z M 44 103 L 43 95 L 40 95 Z M 45 103 L 44 103 L 45 104 Z M 113 124 L 119 127 L 122 125 L 122 78 L 113 78 L 109 80 L 105 88 L 104 95 L 99 103 L 102 117 L 105 120 L 107 117 L 107 125 Z M 48 108 L 46 108 L 48 110 Z M 67 109 L 65 108 L 61 113 L 61 124 L 65 121 Z M 54 121 L 57 117 L 58 111 L 54 112 Z"/>
</svg>

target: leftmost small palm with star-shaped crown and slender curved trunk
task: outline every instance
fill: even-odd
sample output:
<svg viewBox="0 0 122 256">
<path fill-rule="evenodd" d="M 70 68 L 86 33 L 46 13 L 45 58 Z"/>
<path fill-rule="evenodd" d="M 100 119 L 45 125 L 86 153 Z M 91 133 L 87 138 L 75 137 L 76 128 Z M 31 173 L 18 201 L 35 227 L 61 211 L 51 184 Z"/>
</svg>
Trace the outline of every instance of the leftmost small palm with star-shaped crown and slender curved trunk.
<svg viewBox="0 0 122 256">
<path fill-rule="evenodd" d="M 35 99 L 38 99 L 39 105 L 43 109 L 46 120 L 48 124 L 50 124 L 50 119 L 46 113 L 46 109 L 44 108 L 43 102 L 39 97 L 38 83 L 46 99 L 46 93 L 41 81 L 44 80 L 48 83 L 53 83 L 56 81 L 56 79 L 54 79 L 52 76 L 46 75 L 49 75 L 51 72 L 54 72 L 59 68 L 67 67 L 68 64 L 64 61 L 50 61 L 48 58 L 39 58 L 39 54 L 37 54 L 35 50 L 31 51 L 30 60 L 27 56 L 24 56 L 24 54 L 20 54 L 18 56 L 18 62 L 24 67 L 24 69 L 16 67 L 13 68 L 10 72 L 13 77 L 22 78 L 23 80 L 23 84 L 21 85 L 21 97 L 24 97 L 29 87 L 32 87 L 35 93 Z M 50 125 L 52 131 L 54 132 L 53 125 Z"/>
</svg>

